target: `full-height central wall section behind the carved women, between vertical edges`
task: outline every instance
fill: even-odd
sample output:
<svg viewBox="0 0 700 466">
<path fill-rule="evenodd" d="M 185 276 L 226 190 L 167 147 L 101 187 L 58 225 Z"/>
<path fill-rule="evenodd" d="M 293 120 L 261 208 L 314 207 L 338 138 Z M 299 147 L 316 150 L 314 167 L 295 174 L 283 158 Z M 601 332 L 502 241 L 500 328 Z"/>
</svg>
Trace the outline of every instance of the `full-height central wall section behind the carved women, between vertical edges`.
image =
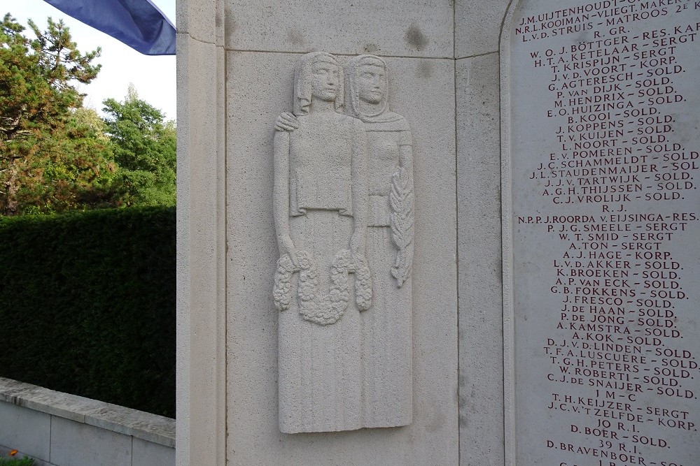
<svg viewBox="0 0 700 466">
<path fill-rule="evenodd" d="M 302 3 L 226 6 L 227 458 L 234 464 L 456 464 L 451 6 Z M 291 110 L 294 66 L 310 50 L 341 59 L 381 54 L 390 72 L 391 108 L 412 126 L 414 422 L 405 428 L 282 435 L 277 426 L 272 123 Z"/>
</svg>

